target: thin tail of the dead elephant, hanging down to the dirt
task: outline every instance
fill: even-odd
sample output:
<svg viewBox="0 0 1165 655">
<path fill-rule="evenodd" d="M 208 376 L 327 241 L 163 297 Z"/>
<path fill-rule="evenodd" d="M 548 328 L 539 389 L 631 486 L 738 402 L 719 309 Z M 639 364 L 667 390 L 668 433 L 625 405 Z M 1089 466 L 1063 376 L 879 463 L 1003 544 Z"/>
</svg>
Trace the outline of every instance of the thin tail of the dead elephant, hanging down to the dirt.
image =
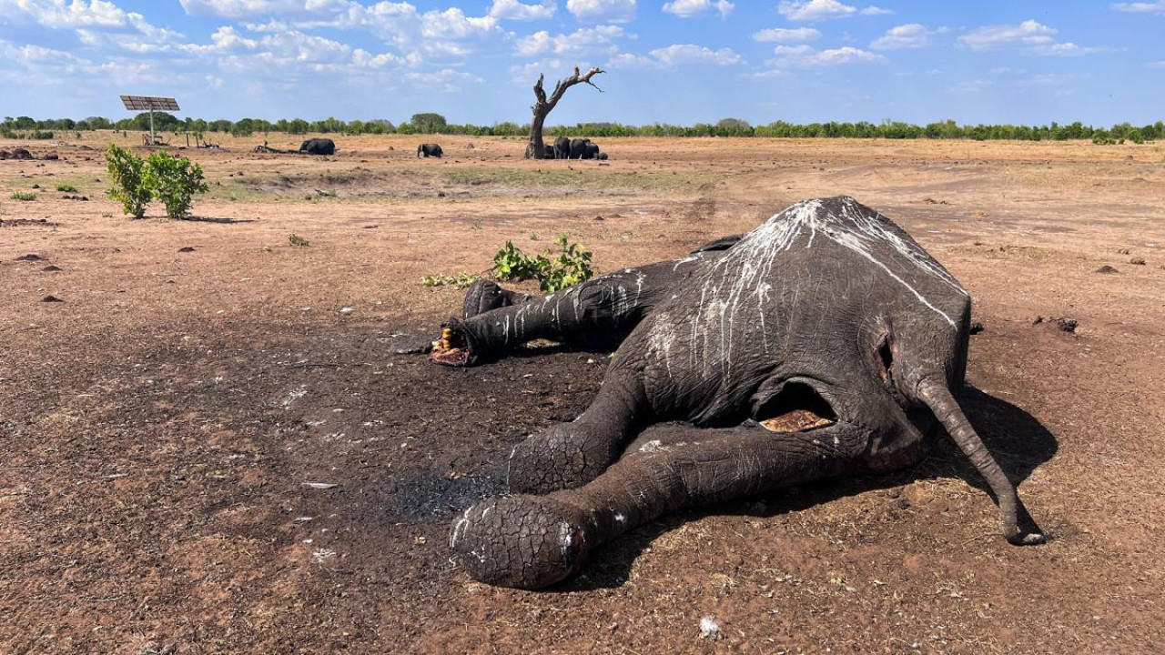
<svg viewBox="0 0 1165 655">
<path fill-rule="evenodd" d="M 967 459 L 970 459 L 970 463 L 975 465 L 975 469 L 991 487 L 991 492 L 995 493 L 1000 505 L 1000 527 L 1008 542 L 1016 545 L 1043 543 L 1044 535 L 1038 531 L 1028 533 L 1019 528 L 1022 505 L 1016 494 L 1015 485 L 1000 469 L 998 463 L 991 457 L 991 452 L 987 450 L 975 429 L 970 427 L 970 422 L 967 421 L 959 402 L 951 394 L 951 389 L 932 378 L 925 380 L 918 390 L 920 400 L 934 413 L 951 438 L 959 444 L 959 449 L 967 456 Z"/>
</svg>

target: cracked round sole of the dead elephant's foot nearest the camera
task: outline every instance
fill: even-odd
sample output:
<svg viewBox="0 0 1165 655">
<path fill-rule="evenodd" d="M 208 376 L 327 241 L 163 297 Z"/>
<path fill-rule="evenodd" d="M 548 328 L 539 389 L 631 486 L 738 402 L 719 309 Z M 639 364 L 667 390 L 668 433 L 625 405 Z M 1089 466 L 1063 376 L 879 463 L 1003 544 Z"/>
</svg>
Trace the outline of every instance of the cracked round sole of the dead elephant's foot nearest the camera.
<svg viewBox="0 0 1165 655">
<path fill-rule="evenodd" d="M 550 498 L 490 498 L 453 522 L 450 547 L 480 582 L 539 589 L 566 579 L 594 547 L 586 510 Z"/>
</svg>

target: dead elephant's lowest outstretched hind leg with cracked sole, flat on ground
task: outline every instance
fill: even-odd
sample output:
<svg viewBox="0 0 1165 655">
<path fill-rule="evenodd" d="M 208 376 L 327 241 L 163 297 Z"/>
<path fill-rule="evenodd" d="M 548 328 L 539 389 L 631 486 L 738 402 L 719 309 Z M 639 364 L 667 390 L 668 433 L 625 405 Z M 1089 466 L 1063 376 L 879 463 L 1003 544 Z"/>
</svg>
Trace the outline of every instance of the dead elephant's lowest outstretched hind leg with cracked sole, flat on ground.
<svg viewBox="0 0 1165 655">
<path fill-rule="evenodd" d="M 598 545 L 677 508 L 903 460 L 902 452 L 871 458 L 868 432 L 843 424 L 799 432 L 755 423 L 662 429 L 666 438 L 658 442 L 672 445 L 628 452 L 580 488 L 479 502 L 454 522 L 451 547 L 479 580 L 537 589 L 573 575 Z"/>
</svg>

